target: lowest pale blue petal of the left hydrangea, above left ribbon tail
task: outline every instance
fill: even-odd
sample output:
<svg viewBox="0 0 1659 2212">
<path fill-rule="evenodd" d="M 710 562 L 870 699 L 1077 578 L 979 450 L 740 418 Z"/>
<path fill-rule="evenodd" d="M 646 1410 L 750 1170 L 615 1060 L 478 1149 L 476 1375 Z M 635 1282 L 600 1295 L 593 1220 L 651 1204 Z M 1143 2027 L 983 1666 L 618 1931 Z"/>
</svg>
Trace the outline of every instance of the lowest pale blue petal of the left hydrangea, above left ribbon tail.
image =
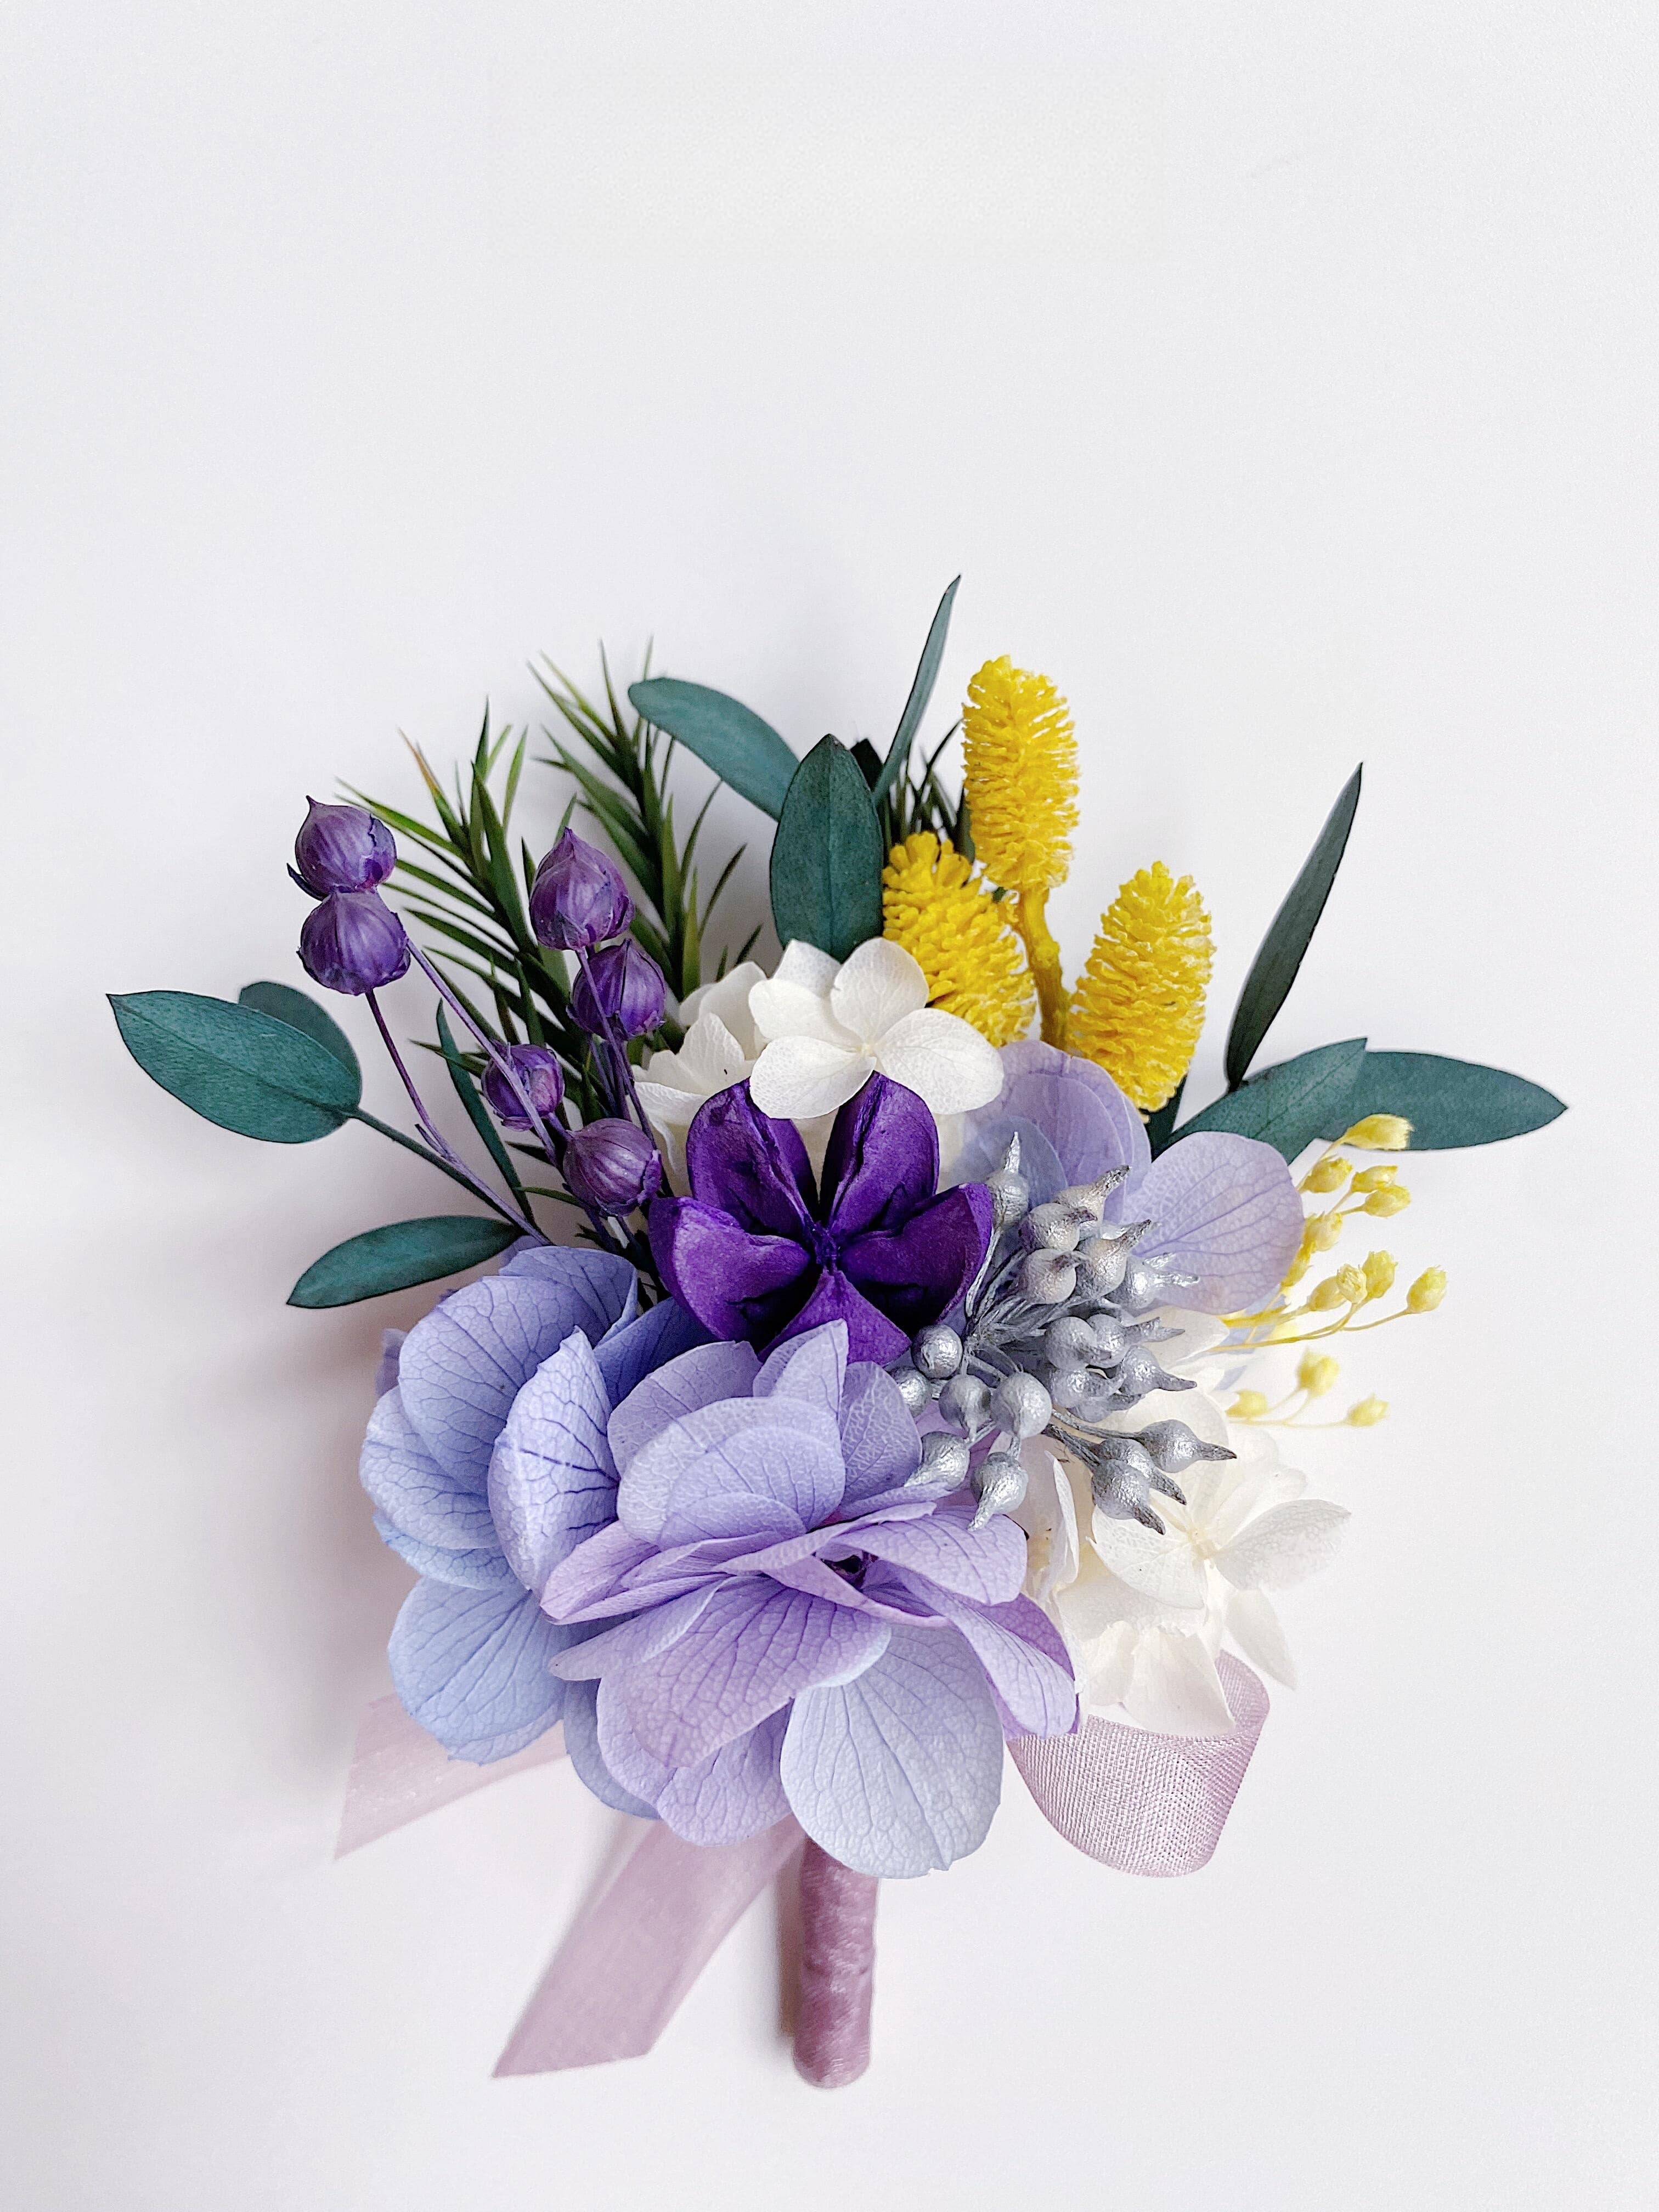
<svg viewBox="0 0 1659 2212">
<path fill-rule="evenodd" d="M 560 1628 L 518 1586 L 462 1590 L 418 1582 L 387 1659 L 405 1710 L 456 1759 L 509 1759 L 557 1721 L 564 1683 L 549 1661 L 580 1630 Z"/>
</svg>

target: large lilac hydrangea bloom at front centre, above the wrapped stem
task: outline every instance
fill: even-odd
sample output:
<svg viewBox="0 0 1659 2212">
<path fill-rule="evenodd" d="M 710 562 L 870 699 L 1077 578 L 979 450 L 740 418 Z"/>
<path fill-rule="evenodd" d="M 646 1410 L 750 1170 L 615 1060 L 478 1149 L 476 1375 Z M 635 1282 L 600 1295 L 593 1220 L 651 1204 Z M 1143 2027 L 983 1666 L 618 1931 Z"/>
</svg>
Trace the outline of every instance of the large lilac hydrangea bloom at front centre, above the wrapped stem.
<svg viewBox="0 0 1659 2212">
<path fill-rule="evenodd" d="M 491 1498 L 555 1531 L 542 1608 L 566 1639 L 564 1741 L 597 1796 L 703 1845 L 792 1812 L 883 1876 L 982 1843 L 1004 1732 L 1064 1734 L 1077 1692 L 1020 1595 L 1020 1531 L 969 1528 L 973 1500 L 929 1493 L 918 1464 L 898 1385 L 847 1365 L 845 1321 L 765 1363 L 745 1343 L 686 1352 L 615 1411 L 586 1338 L 546 1363 Z"/>
</svg>

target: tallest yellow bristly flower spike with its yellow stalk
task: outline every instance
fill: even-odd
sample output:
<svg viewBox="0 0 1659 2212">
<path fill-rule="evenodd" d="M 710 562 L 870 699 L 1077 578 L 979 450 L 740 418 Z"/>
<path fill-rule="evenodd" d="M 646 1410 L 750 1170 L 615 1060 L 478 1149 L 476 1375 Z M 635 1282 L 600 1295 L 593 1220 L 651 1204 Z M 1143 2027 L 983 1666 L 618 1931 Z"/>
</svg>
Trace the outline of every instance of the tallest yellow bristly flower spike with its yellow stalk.
<svg viewBox="0 0 1659 2212">
<path fill-rule="evenodd" d="M 969 684 L 962 708 L 962 792 L 984 874 L 1018 894 L 1013 925 L 1024 938 L 1048 1044 L 1066 1042 L 1060 947 L 1044 914 L 1066 880 L 1077 827 L 1077 737 L 1048 677 L 1015 668 L 1004 653 Z"/>
</svg>

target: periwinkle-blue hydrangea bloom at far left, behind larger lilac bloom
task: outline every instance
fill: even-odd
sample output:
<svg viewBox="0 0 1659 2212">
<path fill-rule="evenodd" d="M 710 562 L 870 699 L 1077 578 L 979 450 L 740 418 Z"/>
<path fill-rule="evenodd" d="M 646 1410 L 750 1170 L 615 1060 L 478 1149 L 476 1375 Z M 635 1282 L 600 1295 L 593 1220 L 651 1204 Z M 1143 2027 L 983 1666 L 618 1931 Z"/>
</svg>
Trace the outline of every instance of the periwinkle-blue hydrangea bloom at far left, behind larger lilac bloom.
<svg viewBox="0 0 1659 2212">
<path fill-rule="evenodd" d="M 584 1630 L 555 1626 L 535 1590 L 611 1517 L 608 1402 L 703 1334 L 672 1301 L 641 1316 L 637 1296 L 611 1252 L 515 1245 L 500 1274 L 440 1298 L 383 1369 L 361 1478 L 383 1542 L 420 1573 L 392 1630 L 392 1683 L 456 1759 L 507 1759 L 564 1710 L 549 1661 Z M 560 1504 L 531 1511 L 518 1460 L 500 1480 L 493 1460 L 526 1394 L 520 1431 L 533 1409 L 553 1436 L 571 1345 L 597 1376 L 588 1400 L 606 1402 L 571 1413 Z"/>
</svg>

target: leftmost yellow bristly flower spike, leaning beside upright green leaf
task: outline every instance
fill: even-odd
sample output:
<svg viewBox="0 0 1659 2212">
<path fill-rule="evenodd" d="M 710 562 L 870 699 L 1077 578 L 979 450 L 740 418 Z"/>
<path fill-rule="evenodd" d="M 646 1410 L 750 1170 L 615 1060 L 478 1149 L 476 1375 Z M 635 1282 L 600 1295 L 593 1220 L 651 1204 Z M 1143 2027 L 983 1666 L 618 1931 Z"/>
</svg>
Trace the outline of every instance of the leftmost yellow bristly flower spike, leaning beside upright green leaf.
<svg viewBox="0 0 1659 2212">
<path fill-rule="evenodd" d="M 883 936 L 918 962 L 929 1002 L 991 1044 L 1024 1037 L 1031 975 L 1006 907 L 973 880 L 973 865 L 929 830 L 894 845 L 880 880 Z"/>
</svg>

